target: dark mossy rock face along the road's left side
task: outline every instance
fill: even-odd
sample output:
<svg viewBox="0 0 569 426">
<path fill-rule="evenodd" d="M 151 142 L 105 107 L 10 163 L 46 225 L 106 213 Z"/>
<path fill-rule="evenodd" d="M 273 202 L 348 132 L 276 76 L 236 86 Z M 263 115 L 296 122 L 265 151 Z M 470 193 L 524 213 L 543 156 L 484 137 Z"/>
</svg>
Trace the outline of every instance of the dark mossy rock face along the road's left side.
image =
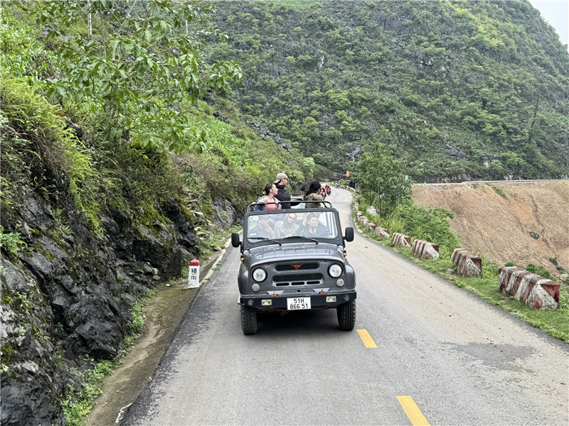
<svg viewBox="0 0 569 426">
<path fill-rule="evenodd" d="M 18 231 L 26 246 L 2 251 L 2 425 L 63 424 L 60 399 L 80 390 L 90 359 L 124 349 L 137 298 L 198 255 L 177 200 L 152 210 L 159 215 L 110 207 L 100 235 L 70 201 L 31 193 L 3 212 L 4 232 Z"/>
</svg>

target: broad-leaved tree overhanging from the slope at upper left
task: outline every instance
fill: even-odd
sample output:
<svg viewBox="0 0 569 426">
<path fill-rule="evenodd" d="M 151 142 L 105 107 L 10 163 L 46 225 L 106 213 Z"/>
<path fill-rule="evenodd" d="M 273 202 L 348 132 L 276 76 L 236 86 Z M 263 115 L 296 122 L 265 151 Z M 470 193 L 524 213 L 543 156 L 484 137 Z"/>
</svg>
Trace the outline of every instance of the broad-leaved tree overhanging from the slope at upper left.
<svg viewBox="0 0 569 426">
<path fill-rule="evenodd" d="M 134 145 L 148 150 L 201 152 L 206 133 L 192 129 L 175 104 L 196 102 L 208 89 L 223 92 L 242 79 L 235 61 L 208 65 L 201 58 L 204 40 L 227 40 L 211 24 L 214 9 L 171 0 L 133 9 L 126 1 L 43 4 L 37 21 L 55 39 L 63 70 L 48 80 L 48 96 L 94 104 L 107 117 L 110 138 L 127 131 Z M 108 33 L 77 25 L 97 13 L 112 25 Z"/>
</svg>

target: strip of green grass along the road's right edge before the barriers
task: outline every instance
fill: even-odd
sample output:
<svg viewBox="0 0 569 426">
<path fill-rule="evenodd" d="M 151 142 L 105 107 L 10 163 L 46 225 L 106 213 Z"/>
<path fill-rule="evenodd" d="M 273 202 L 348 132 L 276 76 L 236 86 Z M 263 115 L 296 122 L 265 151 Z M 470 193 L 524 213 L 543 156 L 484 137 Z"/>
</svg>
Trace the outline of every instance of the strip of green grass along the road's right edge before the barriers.
<svg viewBox="0 0 569 426">
<path fill-rule="evenodd" d="M 531 309 L 528 305 L 516 300 L 514 297 L 498 292 L 499 265 L 488 261 L 483 256 L 482 278 L 459 277 L 458 275 L 454 275 L 454 273 L 449 273 L 449 270 L 453 268 L 452 261 L 450 260 L 452 251 L 442 250 L 437 260 L 420 260 L 413 256 L 410 248 L 394 247 L 390 239 L 381 239 L 373 232 L 362 229 L 361 226 L 357 224 L 355 210 L 353 211 L 353 218 L 361 234 L 369 239 L 373 239 L 377 241 L 378 244 L 397 251 L 400 255 L 417 263 L 422 268 L 427 269 L 427 271 L 439 275 L 445 280 L 457 285 L 459 288 L 468 290 L 470 293 L 481 297 L 492 305 L 501 307 L 501 309 L 516 315 L 516 317 L 519 317 L 531 326 L 542 329 L 550 336 L 569 343 L 569 285 L 560 283 L 560 303 L 557 310 Z"/>
</svg>

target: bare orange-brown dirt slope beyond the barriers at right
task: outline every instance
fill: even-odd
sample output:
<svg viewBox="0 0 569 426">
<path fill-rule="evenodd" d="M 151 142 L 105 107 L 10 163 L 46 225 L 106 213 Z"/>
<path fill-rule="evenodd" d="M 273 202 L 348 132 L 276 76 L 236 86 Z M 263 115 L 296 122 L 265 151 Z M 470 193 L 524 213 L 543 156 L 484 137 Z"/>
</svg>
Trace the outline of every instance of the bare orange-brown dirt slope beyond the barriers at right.
<svg viewBox="0 0 569 426">
<path fill-rule="evenodd" d="M 569 182 L 414 185 L 413 200 L 454 213 L 450 227 L 469 251 L 496 263 L 569 270 Z M 436 242 L 436 241 L 434 241 Z"/>
</svg>

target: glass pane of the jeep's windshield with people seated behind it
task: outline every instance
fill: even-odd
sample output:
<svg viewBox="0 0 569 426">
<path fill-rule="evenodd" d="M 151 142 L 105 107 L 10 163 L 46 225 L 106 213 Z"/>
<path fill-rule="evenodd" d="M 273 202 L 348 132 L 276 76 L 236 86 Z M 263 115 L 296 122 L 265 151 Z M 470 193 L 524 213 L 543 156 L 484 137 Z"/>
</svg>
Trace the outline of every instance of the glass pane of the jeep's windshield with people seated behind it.
<svg viewBox="0 0 569 426">
<path fill-rule="evenodd" d="M 244 234 L 248 241 L 279 240 L 280 243 L 297 240 L 336 239 L 336 216 L 331 211 L 253 212 L 245 221 Z"/>
</svg>

